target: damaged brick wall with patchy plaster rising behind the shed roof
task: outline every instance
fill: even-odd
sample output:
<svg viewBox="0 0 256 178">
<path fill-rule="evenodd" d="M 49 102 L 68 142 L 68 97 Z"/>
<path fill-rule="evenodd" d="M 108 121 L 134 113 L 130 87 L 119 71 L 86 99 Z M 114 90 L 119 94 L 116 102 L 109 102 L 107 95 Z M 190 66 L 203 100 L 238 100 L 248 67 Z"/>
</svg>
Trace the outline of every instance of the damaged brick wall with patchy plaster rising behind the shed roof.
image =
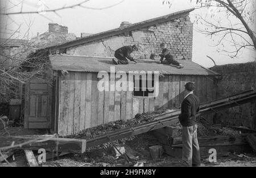
<svg viewBox="0 0 256 178">
<path fill-rule="evenodd" d="M 137 44 L 139 51 L 133 55 L 135 59 L 149 58 L 151 53 L 161 53 L 160 43 L 167 43 L 167 47 L 175 57 L 192 59 L 193 24 L 189 16 L 172 20 L 154 26 L 131 31 L 127 34 L 113 36 L 93 43 L 86 43 L 67 49 L 68 55 L 81 56 L 114 56 L 114 51 L 123 45 Z"/>
</svg>

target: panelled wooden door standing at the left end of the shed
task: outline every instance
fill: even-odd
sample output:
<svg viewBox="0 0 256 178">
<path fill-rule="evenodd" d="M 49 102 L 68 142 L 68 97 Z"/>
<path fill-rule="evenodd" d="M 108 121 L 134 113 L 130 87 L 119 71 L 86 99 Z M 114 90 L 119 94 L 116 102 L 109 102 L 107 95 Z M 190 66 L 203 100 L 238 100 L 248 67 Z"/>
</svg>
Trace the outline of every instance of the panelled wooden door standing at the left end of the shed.
<svg viewBox="0 0 256 178">
<path fill-rule="evenodd" d="M 26 86 L 24 128 L 49 129 L 51 119 L 51 86 L 32 79 Z"/>
</svg>

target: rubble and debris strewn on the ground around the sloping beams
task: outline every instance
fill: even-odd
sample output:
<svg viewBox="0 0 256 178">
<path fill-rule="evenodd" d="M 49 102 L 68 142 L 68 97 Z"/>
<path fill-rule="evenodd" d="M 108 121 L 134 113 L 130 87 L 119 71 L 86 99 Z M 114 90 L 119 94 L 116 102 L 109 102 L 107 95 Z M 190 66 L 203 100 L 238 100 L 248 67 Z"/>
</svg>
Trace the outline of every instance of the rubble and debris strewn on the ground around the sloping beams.
<svg viewBox="0 0 256 178">
<path fill-rule="evenodd" d="M 151 122 L 154 120 L 155 115 L 164 113 L 166 110 L 148 112 L 143 114 L 137 114 L 131 120 L 114 121 L 105 123 L 97 127 L 92 127 L 81 131 L 81 133 L 76 135 L 69 135 L 68 138 L 82 138 L 82 139 L 92 139 L 98 135 L 108 134 L 112 131 L 117 131 L 119 129 L 124 129 L 128 127 L 134 127 L 142 123 Z M 240 136 L 241 131 L 224 126 L 221 124 L 211 124 L 206 119 L 200 118 L 198 123 L 197 135 L 200 136 Z M 180 137 L 182 134 L 182 127 L 180 123 L 172 125 L 175 131 L 172 133 L 174 137 Z M 22 131 L 24 135 L 39 134 L 39 131 L 24 130 L 22 127 L 7 127 L 8 133 L 10 135 L 19 135 L 19 131 Z M 30 133 L 31 132 L 31 133 Z M 44 132 L 44 133 L 43 133 Z M 1 134 L 1 131 L 0 131 Z M 6 133 L 5 133 L 6 134 Z M 46 134 L 46 131 L 42 131 L 40 134 Z M 233 142 L 232 140 L 229 140 Z M 239 142 L 240 140 L 236 140 Z M 158 159 L 152 159 L 150 153 L 151 146 L 160 146 L 158 138 L 156 138 L 152 133 L 144 133 L 140 135 L 130 136 L 128 138 L 123 138 L 116 140 L 114 142 L 109 142 L 102 144 L 100 146 L 91 147 L 86 150 L 83 154 L 63 154 L 52 156 L 52 152 L 47 152 L 46 163 L 42 166 L 180 166 L 181 160 L 175 159 L 174 157 L 167 155 L 165 152 L 162 153 L 162 158 L 159 156 Z M 14 153 L 4 152 L 5 160 L 1 160 L 0 166 L 16 166 L 25 165 L 27 166 L 26 155 L 23 150 L 16 151 Z M 35 158 L 37 159 L 38 154 L 34 151 Z M 60 153 L 58 153 L 60 154 Z M 14 158 L 12 157 L 14 155 Z M 0 157 L 1 158 L 1 157 Z M 247 152 L 234 152 L 226 151 L 223 152 L 221 156 L 218 156 L 217 163 L 209 163 L 209 160 L 202 157 L 203 165 L 205 166 L 218 166 L 225 165 L 227 162 L 230 166 L 236 165 L 256 165 L 256 155 L 251 153 L 248 155 Z M 239 162 L 239 163 L 238 163 Z M 248 162 L 248 163 L 246 163 Z M 250 163 L 249 163 L 250 162 Z"/>
</svg>

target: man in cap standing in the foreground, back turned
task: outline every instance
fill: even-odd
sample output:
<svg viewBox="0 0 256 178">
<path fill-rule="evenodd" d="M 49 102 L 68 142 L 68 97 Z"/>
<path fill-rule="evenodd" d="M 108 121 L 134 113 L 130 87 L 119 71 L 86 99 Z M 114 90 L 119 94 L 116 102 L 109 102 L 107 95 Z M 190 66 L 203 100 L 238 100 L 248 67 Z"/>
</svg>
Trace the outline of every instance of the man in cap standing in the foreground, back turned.
<svg viewBox="0 0 256 178">
<path fill-rule="evenodd" d="M 199 111 L 200 101 L 193 94 L 195 88 L 195 84 L 192 82 L 185 84 L 185 98 L 181 104 L 181 114 L 179 115 L 182 125 L 182 160 L 184 165 L 188 166 L 201 164 L 196 123 L 196 113 Z"/>
</svg>

